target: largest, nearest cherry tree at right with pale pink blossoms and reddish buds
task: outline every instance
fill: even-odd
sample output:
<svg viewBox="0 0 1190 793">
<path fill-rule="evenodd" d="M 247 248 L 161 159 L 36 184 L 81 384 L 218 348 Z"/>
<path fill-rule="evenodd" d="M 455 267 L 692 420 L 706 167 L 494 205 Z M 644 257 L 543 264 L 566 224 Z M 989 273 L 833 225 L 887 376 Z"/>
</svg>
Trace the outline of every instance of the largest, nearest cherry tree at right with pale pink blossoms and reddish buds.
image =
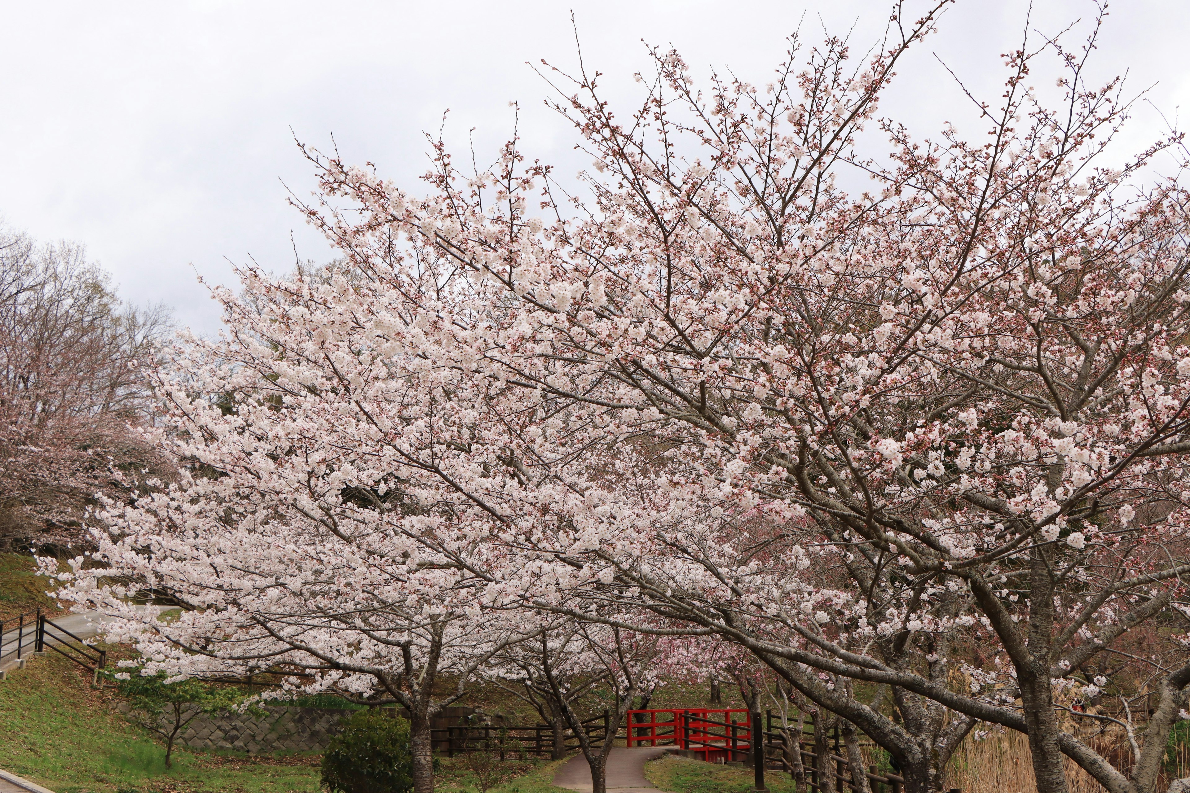
<svg viewBox="0 0 1190 793">
<path fill-rule="evenodd" d="M 434 328 L 469 340 L 452 365 L 500 389 L 493 415 L 530 420 L 502 465 L 541 512 L 502 541 L 599 569 L 571 598 L 741 643 L 894 753 L 912 789 L 939 788 L 982 719 L 1028 735 L 1039 789 L 1065 788 L 1065 754 L 1148 791 L 1190 667 L 1163 668 L 1128 773 L 1060 722 L 1098 687 L 1089 660 L 1183 619 L 1185 195 L 1136 187 L 1180 138 L 1098 164 L 1128 105 L 1084 82 L 1096 27 L 1083 50 L 1006 57 L 1000 107 L 976 103 L 985 143 L 881 121 L 889 157 L 860 156 L 931 24 L 898 11 L 868 64 L 832 39 L 764 89 L 703 93 L 658 51 L 622 122 L 597 74 L 551 73 L 595 157 L 588 200 L 515 143 L 474 175 L 439 145 L 422 200 L 312 153 L 324 203 L 306 210 L 356 262 L 396 235 L 487 290 L 483 322 Z M 1044 54 L 1057 103 L 1028 84 Z M 856 171 L 870 191 L 843 189 Z M 890 686 L 912 718 L 846 679 Z"/>
</svg>

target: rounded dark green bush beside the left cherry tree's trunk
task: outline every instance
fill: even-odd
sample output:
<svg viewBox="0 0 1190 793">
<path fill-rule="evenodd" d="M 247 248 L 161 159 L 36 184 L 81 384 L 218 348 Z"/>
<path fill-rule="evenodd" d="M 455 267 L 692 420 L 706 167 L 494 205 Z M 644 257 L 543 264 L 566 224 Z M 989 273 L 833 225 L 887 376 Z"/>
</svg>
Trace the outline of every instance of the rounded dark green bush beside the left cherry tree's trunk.
<svg viewBox="0 0 1190 793">
<path fill-rule="evenodd" d="M 343 719 L 322 755 L 328 793 L 408 793 L 413 789 L 409 723 L 370 709 Z"/>
</svg>

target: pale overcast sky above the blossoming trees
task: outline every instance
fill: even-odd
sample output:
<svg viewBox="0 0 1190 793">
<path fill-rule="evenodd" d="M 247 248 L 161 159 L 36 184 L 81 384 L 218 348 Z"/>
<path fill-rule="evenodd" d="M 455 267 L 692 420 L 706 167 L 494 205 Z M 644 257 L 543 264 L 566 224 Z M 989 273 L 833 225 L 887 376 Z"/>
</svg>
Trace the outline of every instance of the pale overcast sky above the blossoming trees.
<svg viewBox="0 0 1190 793">
<path fill-rule="evenodd" d="M 916 5 L 914 5 L 916 4 Z M 922 8 L 922 0 L 907 0 Z M 1057 32 L 1090 19 L 1086 0 L 1036 0 L 1034 26 Z M 286 203 L 286 185 L 314 185 L 294 134 L 331 136 L 347 161 L 375 162 L 409 188 L 426 166 L 425 131 L 447 108 L 447 139 L 476 127 L 481 152 L 512 130 L 521 103 L 525 150 L 584 166 L 571 131 L 541 107 L 549 87 L 526 65 L 576 62 L 574 10 L 589 68 L 625 106 L 639 92 L 641 39 L 675 45 L 701 75 L 729 67 L 766 82 L 801 20 L 803 37 L 854 27 L 865 51 L 885 0 L 575 0 L 565 2 L 347 0 L 58 2 L 0 0 L 0 219 L 38 239 L 88 246 L 124 296 L 164 302 L 183 325 L 218 328 L 202 275 L 231 283 L 230 263 L 274 270 L 331 256 Z M 939 32 L 910 52 L 881 113 L 920 136 L 969 118 L 939 58 L 995 101 L 998 54 L 1015 49 L 1027 4 L 959 0 Z M 803 18 L 804 14 L 804 18 Z M 820 23 L 821 17 L 821 23 Z M 1161 131 L 1190 97 L 1185 40 L 1190 2 L 1121 0 L 1111 8 L 1094 71 L 1129 73 L 1152 87 L 1122 149 Z M 937 57 L 935 57 L 937 56 Z M 1039 81 L 1052 86 L 1057 73 Z M 569 169 L 566 171 L 565 169 Z"/>
</svg>

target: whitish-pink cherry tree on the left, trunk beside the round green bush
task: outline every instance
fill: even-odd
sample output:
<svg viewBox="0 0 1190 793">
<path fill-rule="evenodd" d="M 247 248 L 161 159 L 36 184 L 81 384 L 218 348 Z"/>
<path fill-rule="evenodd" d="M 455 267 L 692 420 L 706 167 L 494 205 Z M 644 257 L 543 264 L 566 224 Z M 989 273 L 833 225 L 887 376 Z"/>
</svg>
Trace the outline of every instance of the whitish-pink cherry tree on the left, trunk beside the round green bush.
<svg viewBox="0 0 1190 793">
<path fill-rule="evenodd" d="M 178 482 L 109 502 L 60 597 L 121 616 L 107 635 L 146 674 L 274 672 L 403 705 L 426 793 L 431 719 L 536 629 L 499 609 L 520 560 L 489 536 L 515 479 L 472 434 L 484 401 L 424 358 L 446 295 L 432 272 L 364 275 L 245 271 L 243 298 L 217 291 L 224 336 L 182 339 L 150 373 Z M 145 594 L 182 616 L 138 615 Z"/>
</svg>

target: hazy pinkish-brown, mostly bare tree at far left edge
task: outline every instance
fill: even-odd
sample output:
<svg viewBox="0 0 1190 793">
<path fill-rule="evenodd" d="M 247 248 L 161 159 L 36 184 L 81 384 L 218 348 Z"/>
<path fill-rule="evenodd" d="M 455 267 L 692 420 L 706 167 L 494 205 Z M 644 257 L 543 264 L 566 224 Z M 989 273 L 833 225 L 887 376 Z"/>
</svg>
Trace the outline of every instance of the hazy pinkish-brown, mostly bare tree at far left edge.
<svg viewBox="0 0 1190 793">
<path fill-rule="evenodd" d="M 168 329 L 163 308 L 121 304 L 81 247 L 0 228 L 0 547 L 77 546 L 96 492 L 168 473 L 132 429 L 152 407 L 137 365 Z"/>
</svg>

